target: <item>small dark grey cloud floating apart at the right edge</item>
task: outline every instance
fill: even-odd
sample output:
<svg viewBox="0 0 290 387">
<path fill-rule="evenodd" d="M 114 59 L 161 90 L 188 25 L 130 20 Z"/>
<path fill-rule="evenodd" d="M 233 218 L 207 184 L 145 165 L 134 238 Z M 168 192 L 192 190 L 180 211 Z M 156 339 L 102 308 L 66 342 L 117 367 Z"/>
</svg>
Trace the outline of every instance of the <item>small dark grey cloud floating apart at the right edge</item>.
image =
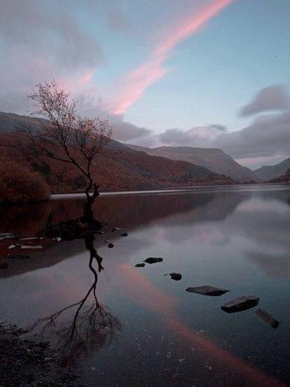
<svg viewBox="0 0 290 387">
<path fill-rule="evenodd" d="M 251 102 L 241 108 L 241 116 L 251 116 L 263 111 L 284 110 L 289 108 L 289 96 L 283 85 L 265 87 L 256 94 Z"/>
</svg>

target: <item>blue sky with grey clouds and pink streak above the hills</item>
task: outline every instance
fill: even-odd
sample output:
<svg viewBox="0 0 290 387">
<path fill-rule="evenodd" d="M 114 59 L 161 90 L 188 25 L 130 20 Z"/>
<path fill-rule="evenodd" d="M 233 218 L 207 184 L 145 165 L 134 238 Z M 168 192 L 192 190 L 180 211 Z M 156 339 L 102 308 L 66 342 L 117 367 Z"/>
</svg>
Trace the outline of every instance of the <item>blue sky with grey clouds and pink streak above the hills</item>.
<svg viewBox="0 0 290 387">
<path fill-rule="evenodd" d="M 146 147 L 290 156 L 289 0 L 0 0 L 0 110 L 55 79 Z"/>
</svg>

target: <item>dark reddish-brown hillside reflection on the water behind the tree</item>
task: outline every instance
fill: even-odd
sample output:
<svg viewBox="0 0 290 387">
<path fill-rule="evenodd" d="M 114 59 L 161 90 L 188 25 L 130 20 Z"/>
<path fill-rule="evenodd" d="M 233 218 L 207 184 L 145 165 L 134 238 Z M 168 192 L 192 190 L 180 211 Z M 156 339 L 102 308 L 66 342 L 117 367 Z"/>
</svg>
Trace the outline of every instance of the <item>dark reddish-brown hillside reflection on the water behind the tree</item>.
<svg viewBox="0 0 290 387">
<path fill-rule="evenodd" d="M 173 214 L 191 212 L 189 219 L 224 219 L 245 198 L 237 192 L 168 192 L 160 195 L 103 196 L 96 200 L 96 219 L 136 228 Z M 82 199 L 51 200 L 27 206 L 3 207 L 0 232 L 35 236 L 50 220 L 57 223 L 82 214 Z"/>
</svg>

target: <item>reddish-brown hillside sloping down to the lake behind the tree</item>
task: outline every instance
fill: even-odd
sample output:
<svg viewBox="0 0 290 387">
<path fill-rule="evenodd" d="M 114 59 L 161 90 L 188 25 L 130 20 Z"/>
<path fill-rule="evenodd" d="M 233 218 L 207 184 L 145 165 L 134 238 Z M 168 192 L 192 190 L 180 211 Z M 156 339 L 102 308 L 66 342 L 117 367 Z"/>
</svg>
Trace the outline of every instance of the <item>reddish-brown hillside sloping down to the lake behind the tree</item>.
<svg viewBox="0 0 290 387">
<path fill-rule="evenodd" d="M 1 118 L 4 120 L 1 121 Z M 7 118 L 8 117 L 8 118 Z M 0 115 L 0 162 L 11 160 L 26 164 L 42 173 L 53 192 L 77 192 L 85 187 L 84 177 L 70 164 L 38 156 L 30 151 L 30 142 L 25 135 L 15 130 L 17 121 L 39 124 L 35 118 L 11 113 Z M 34 121 L 35 120 L 35 121 Z M 6 123 L 8 132 L 6 133 Z M 209 171 L 186 161 L 174 161 L 160 156 L 137 152 L 120 142 L 112 140 L 105 151 L 98 155 L 92 175 L 100 183 L 101 190 L 147 190 L 174 188 L 192 185 L 232 184 L 227 176 Z"/>
</svg>

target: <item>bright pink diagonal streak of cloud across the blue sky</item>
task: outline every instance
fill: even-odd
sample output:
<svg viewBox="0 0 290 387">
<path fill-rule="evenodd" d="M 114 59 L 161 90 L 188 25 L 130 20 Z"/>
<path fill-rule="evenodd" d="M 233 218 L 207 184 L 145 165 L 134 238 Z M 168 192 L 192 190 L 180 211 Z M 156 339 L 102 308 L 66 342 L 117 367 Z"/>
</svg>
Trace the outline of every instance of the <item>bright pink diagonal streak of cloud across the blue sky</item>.
<svg viewBox="0 0 290 387">
<path fill-rule="evenodd" d="M 201 8 L 196 15 L 185 20 L 179 27 L 172 28 L 172 34 L 154 49 L 147 61 L 120 79 L 118 82 L 119 91 L 115 92 L 112 99 L 113 109 L 111 113 L 122 114 L 140 99 L 147 87 L 168 72 L 163 67 L 163 63 L 168 58 L 170 51 L 179 42 L 197 32 L 210 18 L 216 16 L 233 1 L 235 0 L 215 0 L 210 5 Z"/>
</svg>

